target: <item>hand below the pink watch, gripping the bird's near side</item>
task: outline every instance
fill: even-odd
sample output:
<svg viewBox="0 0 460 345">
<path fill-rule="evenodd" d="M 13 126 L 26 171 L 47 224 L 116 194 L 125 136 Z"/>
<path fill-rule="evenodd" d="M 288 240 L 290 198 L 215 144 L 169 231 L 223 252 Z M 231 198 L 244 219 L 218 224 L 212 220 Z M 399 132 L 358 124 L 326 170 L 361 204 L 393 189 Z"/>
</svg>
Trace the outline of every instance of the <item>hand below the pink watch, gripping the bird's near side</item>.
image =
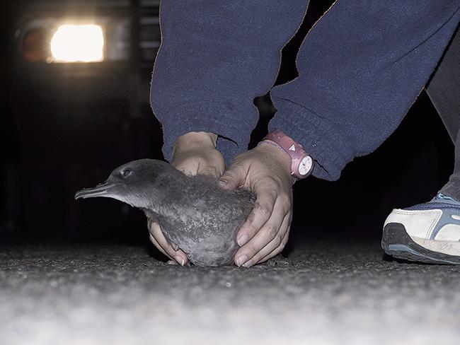
<svg viewBox="0 0 460 345">
<path fill-rule="evenodd" d="M 224 189 L 244 187 L 255 194 L 251 214 L 236 235 L 238 266 L 251 267 L 281 252 L 292 221 L 291 158 L 263 143 L 236 157 L 220 177 Z"/>
</svg>

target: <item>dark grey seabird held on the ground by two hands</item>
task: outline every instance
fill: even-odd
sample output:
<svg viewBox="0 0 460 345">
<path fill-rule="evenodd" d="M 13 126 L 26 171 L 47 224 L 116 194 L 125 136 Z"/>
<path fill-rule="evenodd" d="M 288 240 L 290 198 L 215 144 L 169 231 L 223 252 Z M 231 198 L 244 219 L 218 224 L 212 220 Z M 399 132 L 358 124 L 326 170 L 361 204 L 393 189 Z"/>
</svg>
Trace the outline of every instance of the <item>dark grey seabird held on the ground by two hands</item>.
<svg viewBox="0 0 460 345">
<path fill-rule="evenodd" d="M 105 182 L 81 189 L 75 199 L 108 197 L 144 211 L 166 239 L 198 267 L 234 263 L 236 234 L 253 209 L 255 196 L 219 186 L 210 175 L 185 175 L 163 160 L 140 159 L 115 168 Z"/>
</svg>

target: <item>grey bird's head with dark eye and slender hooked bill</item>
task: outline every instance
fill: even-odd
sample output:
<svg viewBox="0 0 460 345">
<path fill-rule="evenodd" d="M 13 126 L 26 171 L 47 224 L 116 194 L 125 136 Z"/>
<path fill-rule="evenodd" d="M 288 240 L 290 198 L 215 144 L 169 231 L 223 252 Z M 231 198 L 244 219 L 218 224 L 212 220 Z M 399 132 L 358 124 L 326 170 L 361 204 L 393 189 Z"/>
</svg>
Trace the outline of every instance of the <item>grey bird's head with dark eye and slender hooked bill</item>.
<svg viewBox="0 0 460 345">
<path fill-rule="evenodd" d="M 107 197 L 139 208 L 150 208 L 161 193 L 168 177 L 178 170 L 166 162 L 154 159 L 133 160 L 115 168 L 105 182 L 76 192 L 75 199 Z"/>
</svg>

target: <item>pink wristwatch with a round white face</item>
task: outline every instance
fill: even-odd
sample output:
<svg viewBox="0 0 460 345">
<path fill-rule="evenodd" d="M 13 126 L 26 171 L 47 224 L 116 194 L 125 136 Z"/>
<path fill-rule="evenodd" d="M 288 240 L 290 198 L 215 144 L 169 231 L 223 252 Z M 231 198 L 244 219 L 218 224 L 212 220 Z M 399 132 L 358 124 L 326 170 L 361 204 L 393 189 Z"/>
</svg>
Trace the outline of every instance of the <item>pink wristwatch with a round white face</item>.
<svg viewBox="0 0 460 345">
<path fill-rule="evenodd" d="M 297 180 L 308 177 L 314 168 L 313 158 L 301 144 L 296 143 L 279 129 L 270 131 L 259 144 L 268 143 L 282 148 L 291 158 L 291 175 Z"/>
</svg>

